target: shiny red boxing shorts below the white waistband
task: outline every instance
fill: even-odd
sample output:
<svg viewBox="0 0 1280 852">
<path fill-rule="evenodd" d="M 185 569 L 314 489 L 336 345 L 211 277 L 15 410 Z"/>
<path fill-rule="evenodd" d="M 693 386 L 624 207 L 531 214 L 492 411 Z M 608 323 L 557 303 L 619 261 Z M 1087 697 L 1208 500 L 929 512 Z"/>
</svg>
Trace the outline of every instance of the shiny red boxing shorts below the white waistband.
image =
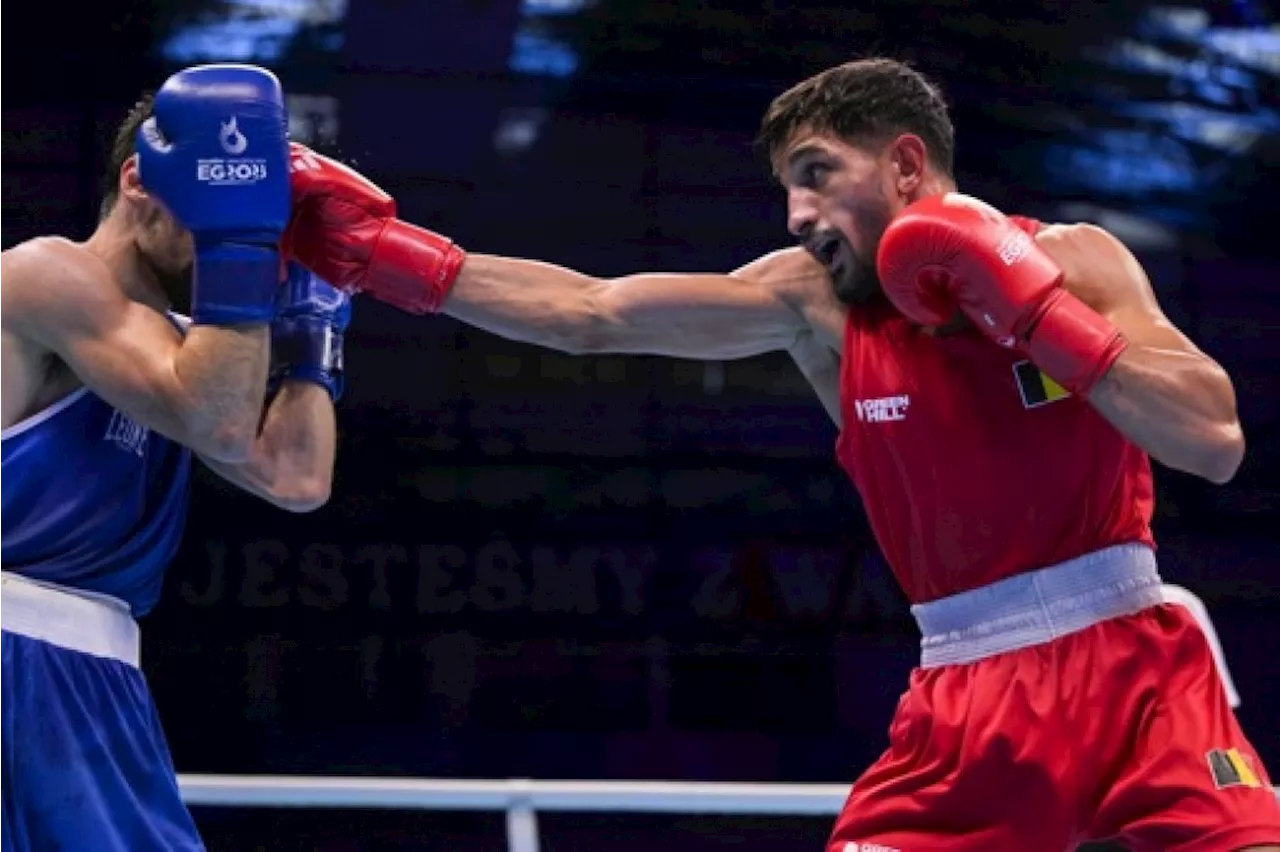
<svg viewBox="0 0 1280 852">
<path fill-rule="evenodd" d="M 1280 843 L 1280 805 L 1181 606 L 916 669 L 828 852 Z"/>
</svg>

